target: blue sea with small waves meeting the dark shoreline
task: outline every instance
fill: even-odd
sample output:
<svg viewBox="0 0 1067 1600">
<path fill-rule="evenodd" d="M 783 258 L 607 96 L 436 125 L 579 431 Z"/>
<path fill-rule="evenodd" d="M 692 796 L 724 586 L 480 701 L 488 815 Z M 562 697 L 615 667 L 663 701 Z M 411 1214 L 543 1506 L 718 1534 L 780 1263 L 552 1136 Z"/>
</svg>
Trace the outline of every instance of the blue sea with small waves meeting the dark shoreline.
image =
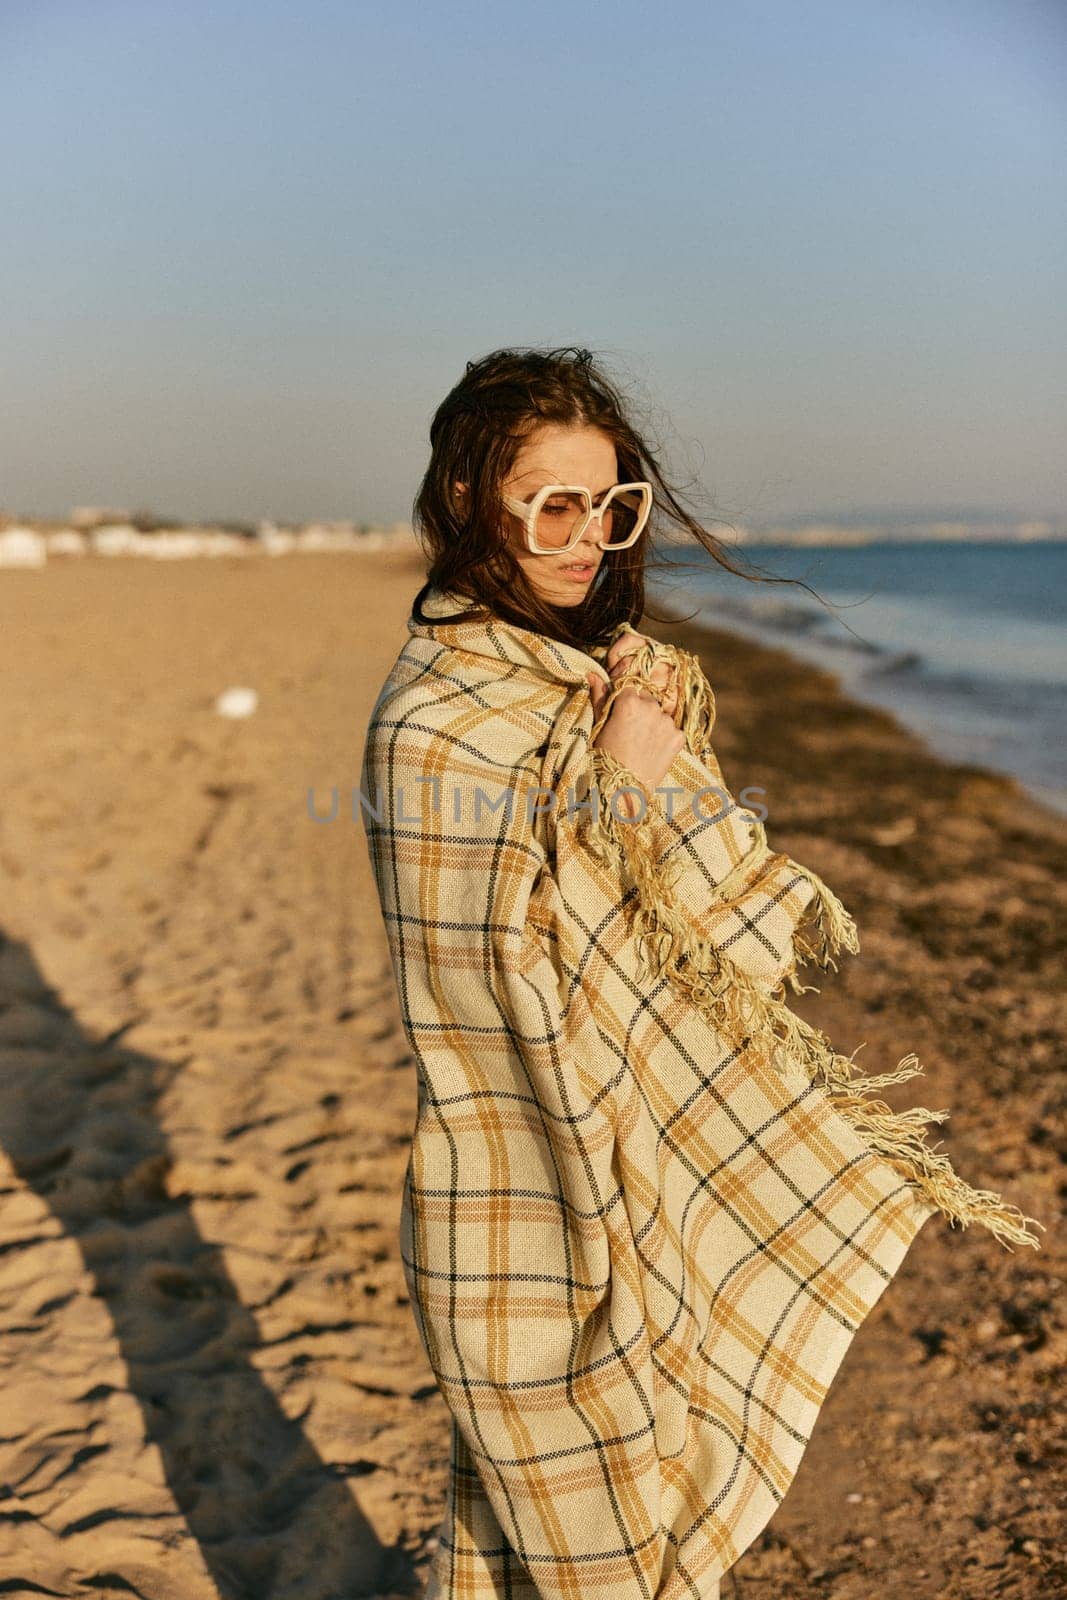
<svg viewBox="0 0 1067 1600">
<path fill-rule="evenodd" d="M 728 546 L 734 578 L 696 542 L 685 570 L 648 573 L 648 600 L 830 669 L 941 757 L 1019 779 L 1067 816 L 1067 542 L 886 541 Z"/>
</svg>

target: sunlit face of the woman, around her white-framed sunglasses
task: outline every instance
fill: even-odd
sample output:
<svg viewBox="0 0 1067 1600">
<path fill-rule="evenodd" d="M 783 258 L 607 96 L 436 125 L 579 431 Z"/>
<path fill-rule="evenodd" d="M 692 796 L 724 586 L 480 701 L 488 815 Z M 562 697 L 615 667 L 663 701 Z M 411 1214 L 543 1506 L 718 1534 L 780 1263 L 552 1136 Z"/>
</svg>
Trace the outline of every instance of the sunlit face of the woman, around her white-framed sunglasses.
<svg viewBox="0 0 1067 1600">
<path fill-rule="evenodd" d="M 504 483 L 504 493 L 530 501 L 545 483 L 584 483 L 595 506 L 611 485 L 617 483 L 616 474 L 614 440 L 600 429 L 545 422 L 518 451 L 510 477 Z M 573 550 L 534 555 L 526 546 L 522 517 L 509 510 L 504 517 L 509 544 L 523 576 L 537 595 L 550 605 L 581 605 L 600 571 L 600 563 L 605 558 L 611 560 L 611 555 L 597 544 L 600 523 L 590 518 Z"/>
</svg>

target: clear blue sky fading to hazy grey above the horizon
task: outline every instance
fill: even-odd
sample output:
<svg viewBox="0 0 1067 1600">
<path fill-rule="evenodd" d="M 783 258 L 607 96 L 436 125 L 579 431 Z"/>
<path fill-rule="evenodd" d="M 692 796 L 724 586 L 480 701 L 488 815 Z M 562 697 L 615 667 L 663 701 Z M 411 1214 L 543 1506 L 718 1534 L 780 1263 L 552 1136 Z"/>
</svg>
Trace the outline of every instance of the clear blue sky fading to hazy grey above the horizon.
<svg viewBox="0 0 1067 1600">
<path fill-rule="evenodd" d="M 501 344 L 733 515 L 1067 510 L 1062 0 L 0 0 L 0 507 L 406 518 Z"/>
</svg>

